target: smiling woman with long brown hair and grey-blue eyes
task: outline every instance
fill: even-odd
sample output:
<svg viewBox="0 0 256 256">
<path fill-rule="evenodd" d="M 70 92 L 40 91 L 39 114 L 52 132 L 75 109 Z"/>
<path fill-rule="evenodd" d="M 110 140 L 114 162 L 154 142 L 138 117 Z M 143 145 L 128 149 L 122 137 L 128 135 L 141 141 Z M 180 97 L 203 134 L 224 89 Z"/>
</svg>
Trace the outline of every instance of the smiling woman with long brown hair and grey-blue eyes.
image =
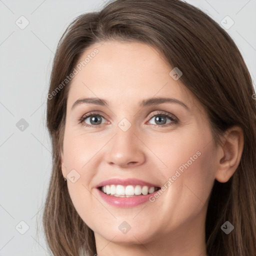
<svg viewBox="0 0 256 256">
<path fill-rule="evenodd" d="M 185 2 L 77 17 L 47 95 L 53 254 L 255 255 L 253 95 L 233 40 Z"/>
</svg>

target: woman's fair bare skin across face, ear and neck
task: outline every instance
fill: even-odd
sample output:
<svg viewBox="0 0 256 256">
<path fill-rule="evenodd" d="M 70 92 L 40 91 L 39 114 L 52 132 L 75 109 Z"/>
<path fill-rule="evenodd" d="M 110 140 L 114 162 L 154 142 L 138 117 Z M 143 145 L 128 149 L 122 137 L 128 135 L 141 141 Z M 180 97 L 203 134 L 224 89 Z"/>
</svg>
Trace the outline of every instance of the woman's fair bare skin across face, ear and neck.
<svg viewBox="0 0 256 256">
<path fill-rule="evenodd" d="M 80 60 L 95 48 L 99 52 L 70 85 L 61 166 L 75 209 L 94 231 L 97 254 L 205 256 L 209 194 L 215 178 L 228 181 L 238 166 L 242 130 L 232 127 L 215 146 L 205 109 L 180 79 L 169 75 L 173 67 L 155 48 L 106 41 L 91 45 Z M 71 109 L 86 97 L 103 98 L 109 106 L 84 103 Z M 189 110 L 177 103 L 138 105 L 149 97 L 172 97 Z M 178 122 L 163 117 L 163 123 L 172 125 L 156 125 L 156 116 L 149 114 L 158 110 Z M 91 111 L 102 116 L 98 127 L 90 117 L 78 121 Z M 131 124 L 125 132 L 118 126 L 123 118 Z M 197 151 L 200 156 L 153 202 L 121 208 L 103 201 L 96 191 L 99 182 L 114 177 L 136 177 L 161 186 Z M 72 169 L 80 175 L 74 183 L 67 177 Z M 125 234 L 118 228 L 123 221 L 131 226 Z"/>
</svg>

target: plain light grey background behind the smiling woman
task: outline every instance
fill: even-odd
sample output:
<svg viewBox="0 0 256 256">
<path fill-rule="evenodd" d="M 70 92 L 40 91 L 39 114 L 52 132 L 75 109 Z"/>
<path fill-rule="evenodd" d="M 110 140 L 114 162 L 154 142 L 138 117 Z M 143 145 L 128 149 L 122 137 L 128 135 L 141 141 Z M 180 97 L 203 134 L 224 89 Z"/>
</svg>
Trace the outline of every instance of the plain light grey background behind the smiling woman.
<svg viewBox="0 0 256 256">
<path fill-rule="evenodd" d="M 256 0 L 187 2 L 218 23 L 226 15 L 234 21 L 227 32 L 255 81 Z M 103 4 L 103 0 L 0 0 L 0 256 L 49 255 L 41 208 L 51 172 L 45 107 L 52 59 L 71 20 Z M 21 15 L 29 21 L 24 29 L 15 23 L 25 24 Z M 21 118 L 28 127 L 16 126 Z M 20 232 L 26 224 L 21 220 L 29 226 L 24 234 Z"/>
</svg>

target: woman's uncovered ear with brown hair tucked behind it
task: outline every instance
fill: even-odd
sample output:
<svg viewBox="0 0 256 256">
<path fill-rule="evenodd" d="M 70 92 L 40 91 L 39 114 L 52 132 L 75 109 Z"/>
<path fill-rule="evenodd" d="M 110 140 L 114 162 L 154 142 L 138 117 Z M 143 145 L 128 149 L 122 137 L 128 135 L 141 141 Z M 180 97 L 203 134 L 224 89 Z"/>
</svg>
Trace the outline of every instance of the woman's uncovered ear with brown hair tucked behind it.
<svg viewBox="0 0 256 256">
<path fill-rule="evenodd" d="M 233 175 L 241 159 L 243 144 L 243 131 L 239 126 L 232 126 L 225 132 L 218 147 L 217 181 L 227 182 Z"/>
</svg>

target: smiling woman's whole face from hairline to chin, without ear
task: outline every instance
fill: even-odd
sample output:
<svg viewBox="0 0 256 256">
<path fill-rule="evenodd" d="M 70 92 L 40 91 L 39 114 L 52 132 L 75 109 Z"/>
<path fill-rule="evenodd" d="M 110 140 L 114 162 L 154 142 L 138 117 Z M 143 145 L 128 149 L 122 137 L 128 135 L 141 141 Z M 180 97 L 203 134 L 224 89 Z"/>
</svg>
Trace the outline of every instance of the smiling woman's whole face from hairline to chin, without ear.
<svg viewBox="0 0 256 256">
<path fill-rule="evenodd" d="M 106 41 L 78 62 L 87 55 L 61 155 L 76 211 L 96 239 L 121 244 L 203 232 L 216 156 L 204 108 L 155 48 Z"/>
</svg>

